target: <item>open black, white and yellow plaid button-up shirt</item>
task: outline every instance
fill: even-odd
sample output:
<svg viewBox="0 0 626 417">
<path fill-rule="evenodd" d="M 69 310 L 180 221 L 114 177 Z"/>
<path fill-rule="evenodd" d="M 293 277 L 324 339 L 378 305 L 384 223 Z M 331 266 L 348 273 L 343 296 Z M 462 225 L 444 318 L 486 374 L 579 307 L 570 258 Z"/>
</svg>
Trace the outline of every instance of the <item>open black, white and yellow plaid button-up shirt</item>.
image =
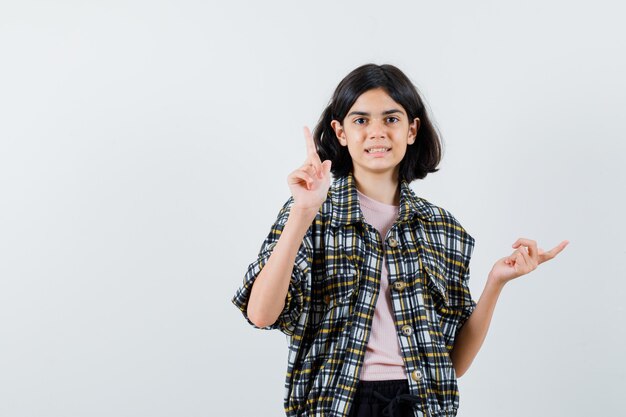
<svg viewBox="0 0 626 417">
<path fill-rule="evenodd" d="M 247 316 L 254 279 L 280 237 L 284 204 L 232 302 Z M 380 287 L 389 270 L 393 317 L 416 417 L 455 416 L 459 406 L 450 352 L 476 308 L 468 288 L 474 238 L 454 216 L 400 183 L 399 215 L 381 240 L 366 223 L 352 174 L 333 180 L 296 255 L 285 308 L 263 329 L 289 342 L 285 412 L 345 417 L 356 392 Z M 256 327 L 256 326 L 255 326 Z"/>
</svg>

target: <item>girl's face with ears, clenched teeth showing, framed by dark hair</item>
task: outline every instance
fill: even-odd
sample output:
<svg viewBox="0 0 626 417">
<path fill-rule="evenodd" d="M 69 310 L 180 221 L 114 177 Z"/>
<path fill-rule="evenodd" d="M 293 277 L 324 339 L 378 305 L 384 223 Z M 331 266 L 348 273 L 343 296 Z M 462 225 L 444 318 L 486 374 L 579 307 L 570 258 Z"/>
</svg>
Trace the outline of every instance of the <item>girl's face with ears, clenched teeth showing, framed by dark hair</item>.
<svg viewBox="0 0 626 417">
<path fill-rule="evenodd" d="M 355 176 L 389 174 L 397 179 L 406 148 L 415 142 L 419 119 L 409 121 L 404 108 L 376 88 L 359 96 L 343 123 L 333 120 L 331 126 L 341 146 L 348 147 Z"/>
</svg>

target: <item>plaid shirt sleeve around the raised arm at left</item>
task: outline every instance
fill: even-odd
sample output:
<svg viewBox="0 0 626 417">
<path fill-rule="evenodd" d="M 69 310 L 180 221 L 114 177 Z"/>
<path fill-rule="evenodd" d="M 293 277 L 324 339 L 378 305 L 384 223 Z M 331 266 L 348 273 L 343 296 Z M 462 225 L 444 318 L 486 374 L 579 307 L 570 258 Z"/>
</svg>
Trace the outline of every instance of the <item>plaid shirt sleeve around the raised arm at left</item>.
<svg viewBox="0 0 626 417">
<path fill-rule="evenodd" d="M 241 310 L 245 319 L 253 327 L 263 330 L 279 329 L 286 335 L 292 335 L 294 333 L 296 324 L 298 323 L 298 319 L 300 318 L 304 307 L 304 300 L 308 288 L 308 276 L 311 273 L 312 263 L 311 227 L 307 230 L 300 248 L 298 249 L 291 273 L 289 289 L 285 299 L 285 307 L 276 322 L 266 327 L 258 327 L 252 323 L 248 317 L 247 309 L 252 285 L 267 263 L 276 242 L 278 242 L 278 239 L 280 238 L 283 228 L 285 227 L 285 223 L 289 218 L 289 212 L 293 202 L 293 197 L 290 197 L 281 208 L 269 234 L 261 245 L 257 259 L 248 266 L 243 278 L 243 285 L 237 289 L 231 300 L 232 303 L 239 308 L 239 310 Z"/>
</svg>

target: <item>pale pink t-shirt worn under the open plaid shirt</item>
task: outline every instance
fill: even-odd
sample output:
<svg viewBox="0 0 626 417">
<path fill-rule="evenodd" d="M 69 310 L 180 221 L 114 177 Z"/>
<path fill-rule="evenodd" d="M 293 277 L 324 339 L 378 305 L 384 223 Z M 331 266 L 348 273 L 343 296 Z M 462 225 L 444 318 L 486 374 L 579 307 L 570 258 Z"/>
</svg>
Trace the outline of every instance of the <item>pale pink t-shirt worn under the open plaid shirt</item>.
<svg viewBox="0 0 626 417">
<path fill-rule="evenodd" d="M 365 221 L 374 226 L 385 239 L 387 232 L 398 218 L 399 206 L 383 204 L 367 197 L 357 190 L 361 211 Z M 363 381 L 381 381 L 387 379 L 406 379 L 406 369 L 400 352 L 398 331 L 391 310 L 391 295 L 387 264 L 383 262 L 380 276 L 380 293 L 376 301 L 372 331 L 365 351 L 360 379 Z"/>
</svg>

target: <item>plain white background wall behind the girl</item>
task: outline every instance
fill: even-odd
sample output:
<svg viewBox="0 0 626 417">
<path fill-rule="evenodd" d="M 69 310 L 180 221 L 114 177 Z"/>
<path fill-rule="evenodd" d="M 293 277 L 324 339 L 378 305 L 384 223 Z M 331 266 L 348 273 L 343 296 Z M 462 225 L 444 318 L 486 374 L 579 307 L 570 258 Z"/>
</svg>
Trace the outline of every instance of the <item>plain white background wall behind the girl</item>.
<svg viewBox="0 0 626 417">
<path fill-rule="evenodd" d="M 231 304 L 337 83 L 401 68 L 441 130 L 412 188 L 518 237 L 460 417 L 619 415 L 619 2 L 3 1 L 0 415 L 280 416 L 287 345 Z"/>
</svg>

